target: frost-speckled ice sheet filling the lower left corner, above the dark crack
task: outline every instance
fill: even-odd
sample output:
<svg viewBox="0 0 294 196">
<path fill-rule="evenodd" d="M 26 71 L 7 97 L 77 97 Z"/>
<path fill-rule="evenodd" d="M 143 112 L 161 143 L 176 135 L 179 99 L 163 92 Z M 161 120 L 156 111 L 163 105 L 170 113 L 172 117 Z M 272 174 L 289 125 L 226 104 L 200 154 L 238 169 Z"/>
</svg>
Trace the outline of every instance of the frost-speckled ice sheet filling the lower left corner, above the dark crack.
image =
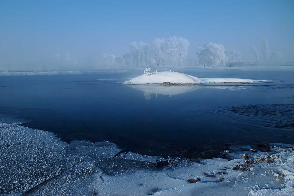
<svg viewBox="0 0 294 196">
<path fill-rule="evenodd" d="M 0 194 L 22 193 L 64 170 L 64 142 L 49 132 L 0 123 Z"/>
</svg>

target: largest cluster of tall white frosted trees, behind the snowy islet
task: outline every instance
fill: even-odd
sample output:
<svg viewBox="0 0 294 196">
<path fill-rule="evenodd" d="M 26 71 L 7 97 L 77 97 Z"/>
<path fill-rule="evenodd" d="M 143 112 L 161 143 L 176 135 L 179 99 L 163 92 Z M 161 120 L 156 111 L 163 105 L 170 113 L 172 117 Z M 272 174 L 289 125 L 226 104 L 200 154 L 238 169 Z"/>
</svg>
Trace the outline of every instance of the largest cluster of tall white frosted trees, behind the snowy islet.
<svg viewBox="0 0 294 196">
<path fill-rule="evenodd" d="M 183 37 L 155 38 L 151 45 L 132 42 L 130 53 L 123 56 L 102 54 L 100 58 L 103 65 L 180 66 L 188 54 L 189 44 L 189 41 Z"/>
</svg>

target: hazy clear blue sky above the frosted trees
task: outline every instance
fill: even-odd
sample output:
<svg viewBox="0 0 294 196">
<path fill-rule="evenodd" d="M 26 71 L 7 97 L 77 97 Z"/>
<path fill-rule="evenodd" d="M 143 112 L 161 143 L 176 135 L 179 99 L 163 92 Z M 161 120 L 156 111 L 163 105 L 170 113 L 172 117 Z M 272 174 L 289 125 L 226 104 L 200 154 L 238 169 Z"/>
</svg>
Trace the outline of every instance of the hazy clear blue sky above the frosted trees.
<svg viewBox="0 0 294 196">
<path fill-rule="evenodd" d="M 187 58 L 208 42 L 241 52 L 250 46 L 294 61 L 294 1 L 0 1 L 0 66 L 59 61 L 98 64 L 102 53 L 122 56 L 131 42 L 184 37 Z"/>
</svg>

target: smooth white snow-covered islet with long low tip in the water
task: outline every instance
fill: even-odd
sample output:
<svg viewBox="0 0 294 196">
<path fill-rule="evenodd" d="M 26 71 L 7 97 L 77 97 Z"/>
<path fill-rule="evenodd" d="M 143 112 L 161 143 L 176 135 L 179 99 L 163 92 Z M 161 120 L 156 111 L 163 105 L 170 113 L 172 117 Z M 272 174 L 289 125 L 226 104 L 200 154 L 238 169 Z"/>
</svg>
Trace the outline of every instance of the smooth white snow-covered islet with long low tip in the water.
<svg viewBox="0 0 294 196">
<path fill-rule="evenodd" d="M 140 75 L 136 78 L 126 81 L 124 84 L 201 84 L 201 83 L 228 83 L 228 82 L 262 82 L 265 80 L 251 80 L 242 78 L 197 78 L 188 74 L 179 72 L 156 72 L 150 73 L 150 75 Z"/>
</svg>

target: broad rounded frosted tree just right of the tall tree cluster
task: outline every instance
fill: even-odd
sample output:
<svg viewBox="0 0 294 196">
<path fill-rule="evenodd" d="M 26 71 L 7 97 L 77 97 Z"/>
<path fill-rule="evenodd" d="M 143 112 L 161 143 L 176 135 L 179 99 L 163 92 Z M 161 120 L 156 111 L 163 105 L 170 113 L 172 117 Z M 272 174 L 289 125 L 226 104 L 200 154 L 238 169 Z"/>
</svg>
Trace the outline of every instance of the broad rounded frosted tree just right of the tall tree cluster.
<svg viewBox="0 0 294 196">
<path fill-rule="evenodd" d="M 198 56 L 199 63 L 203 64 L 204 67 L 206 65 L 224 66 L 227 58 L 225 55 L 225 47 L 221 44 L 211 42 L 204 45 L 204 48 L 199 47 L 196 54 Z"/>
</svg>

